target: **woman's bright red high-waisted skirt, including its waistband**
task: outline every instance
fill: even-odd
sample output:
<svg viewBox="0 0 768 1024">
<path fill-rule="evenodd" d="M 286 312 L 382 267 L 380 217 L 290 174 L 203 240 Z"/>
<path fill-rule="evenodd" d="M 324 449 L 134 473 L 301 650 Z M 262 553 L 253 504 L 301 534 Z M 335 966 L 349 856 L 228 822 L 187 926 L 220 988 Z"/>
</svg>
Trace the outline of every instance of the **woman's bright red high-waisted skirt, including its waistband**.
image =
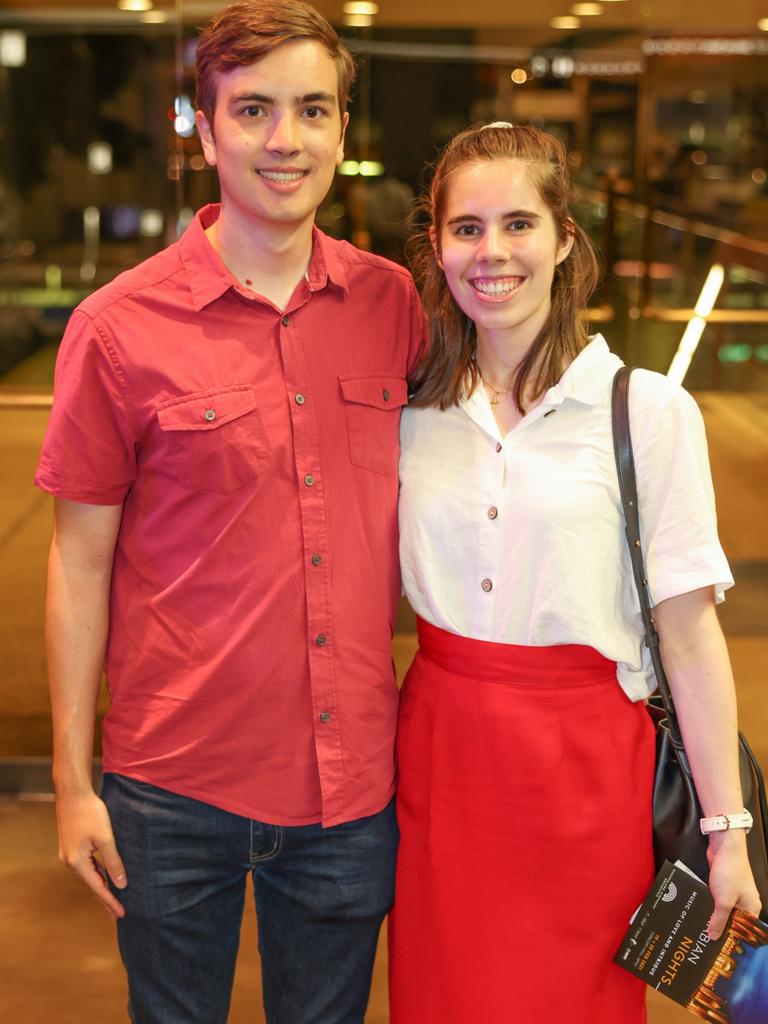
<svg viewBox="0 0 768 1024">
<path fill-rule="evenodd" d="M 419 623 L 397 738 L 391 1024 L 641 1024 L 654 734 L 591 647 Z"/>
</svg>

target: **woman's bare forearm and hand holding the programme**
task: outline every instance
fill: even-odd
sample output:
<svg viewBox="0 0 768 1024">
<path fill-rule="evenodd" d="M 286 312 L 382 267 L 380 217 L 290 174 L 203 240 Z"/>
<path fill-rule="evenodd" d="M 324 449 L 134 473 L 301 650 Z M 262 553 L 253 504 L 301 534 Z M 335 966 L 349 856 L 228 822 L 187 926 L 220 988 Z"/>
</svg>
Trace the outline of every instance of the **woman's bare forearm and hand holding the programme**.
<svg viewBox="0 0 768 1024">
<path fill-rule="evenodd" d="M 653 618 L 705 816 L 738 814 L 743 798 L 736 696 L 712 588 L 660 601 Z M 745 830 L 712 833 L 709 844 L 710 888 L 715 897 L 709 934 L 716 939 L 734 906 L 758 914 L 760 897 L 746 856 Z"/>
</svg>

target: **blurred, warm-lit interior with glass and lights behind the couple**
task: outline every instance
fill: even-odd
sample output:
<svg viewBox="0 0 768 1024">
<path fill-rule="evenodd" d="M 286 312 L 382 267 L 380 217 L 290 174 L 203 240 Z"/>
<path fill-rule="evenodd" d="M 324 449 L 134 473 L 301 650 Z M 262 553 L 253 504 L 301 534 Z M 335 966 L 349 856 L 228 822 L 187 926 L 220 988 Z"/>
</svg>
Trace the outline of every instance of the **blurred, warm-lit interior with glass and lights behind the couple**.
<svg viewBox="0 0 768 1024">
<path fill-rule="evenodd" d="M 51 508 L 32 477 L 70 312 L 217 199 L 193 102 L 198 32 L 221 6 L 5 0 L 0 9 L 0 1017 L 9 1024 L 126 1019 L 111 923 L 55 862 L 42 642 Z M 683 381 L 705 415 L 738 584 L 722 622 L 742 722 L 765 765 L 768 0 L 316 6 L 359 69 L 346 160 L 318 215 L 329 233 L 404 261 L 425 168 L 473 122 L 529 122 L 568 147 L 574 212 L 606 266 L 591 322 L 627 361 Z M 413 631 L 403 606 L 400 675 Z M 254 928 L 249 911 L 236 1024 L 261 1019 Z M 685 1019 L 660 998 L 651 1005 L 653 1024 Z M 369 1022 L 385 1021 L 382 952 Z"/>
</svg>

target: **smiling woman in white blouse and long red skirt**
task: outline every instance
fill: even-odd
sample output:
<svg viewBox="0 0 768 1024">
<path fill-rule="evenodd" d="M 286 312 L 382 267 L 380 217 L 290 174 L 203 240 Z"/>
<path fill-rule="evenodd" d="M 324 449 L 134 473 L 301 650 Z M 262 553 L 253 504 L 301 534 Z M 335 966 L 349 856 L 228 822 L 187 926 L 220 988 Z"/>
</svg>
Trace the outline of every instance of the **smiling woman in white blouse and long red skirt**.
<svg viewBox="0 0 768 1024">
<path fill-rule="evenodd" d="M 392 1024 L 640 1024 L 611 963 L 653 878 L 653 688 L 610 433 L 621 360 L 565 154 L 458 135 L 421 240 L 431 344 L 402 417 L 401 562 L 419 616 L 398 734 Z M 701 419 L 658 374 L 631 426 L 654 616 L 707 815 L 742 810 Z M 757 912 L 743 829 L 710 839 L 718 935 Z"/>
</svg>

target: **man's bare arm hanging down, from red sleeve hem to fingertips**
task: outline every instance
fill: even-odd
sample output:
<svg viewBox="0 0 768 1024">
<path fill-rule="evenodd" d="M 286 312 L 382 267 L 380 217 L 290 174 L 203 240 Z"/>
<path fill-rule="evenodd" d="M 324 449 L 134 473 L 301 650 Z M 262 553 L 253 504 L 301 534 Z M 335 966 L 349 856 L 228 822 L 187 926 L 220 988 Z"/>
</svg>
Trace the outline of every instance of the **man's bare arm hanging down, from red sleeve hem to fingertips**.
<svg viewBox="0 0 768 1024">
<path fill-rule="evenodd" d="M 106 807 L 93 790 L 91 761 L 122 513 L 122 505 L 56 500 L 46 596 L 58 856 L 115 918 L 125 910 L 103 869 L 120 889 L 127 879 Z"/>
</svg>

